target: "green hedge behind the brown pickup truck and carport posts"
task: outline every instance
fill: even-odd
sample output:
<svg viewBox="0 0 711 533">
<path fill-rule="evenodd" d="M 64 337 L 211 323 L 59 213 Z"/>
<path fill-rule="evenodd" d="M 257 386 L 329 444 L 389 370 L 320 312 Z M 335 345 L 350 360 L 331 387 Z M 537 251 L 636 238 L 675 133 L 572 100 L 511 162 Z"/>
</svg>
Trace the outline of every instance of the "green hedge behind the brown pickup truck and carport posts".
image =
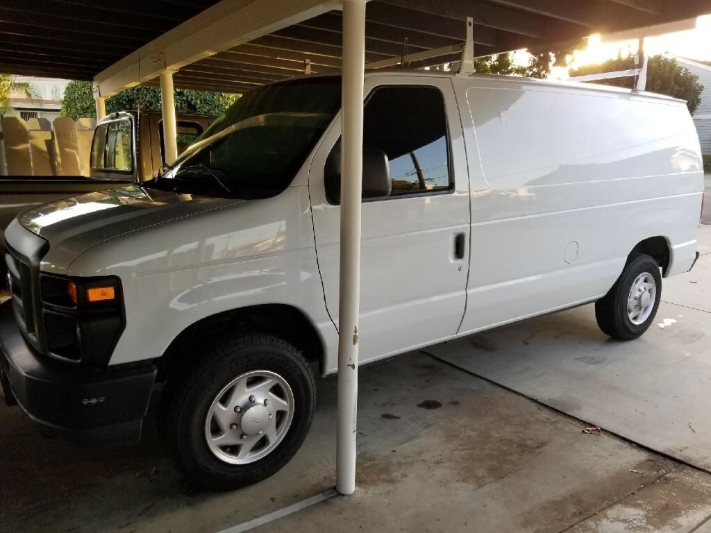
<svg viewBox="0 0 711 533">
<path fill-rule="evenodd" d="M 216 117 L 230 107 L 239 95 L 225 92 L 176 89 L 176 112 L 205 114 Z M 141 110 L 161 110 L 161 90 L 159 87 L 132 87 L 106 100 L 106 112 Z M 95 117 L 96 109 L 92 93 L 92 83 L 73 81 L 67 85 L 62 100 L 62 116 L 77 119 Z"/>
</svg>

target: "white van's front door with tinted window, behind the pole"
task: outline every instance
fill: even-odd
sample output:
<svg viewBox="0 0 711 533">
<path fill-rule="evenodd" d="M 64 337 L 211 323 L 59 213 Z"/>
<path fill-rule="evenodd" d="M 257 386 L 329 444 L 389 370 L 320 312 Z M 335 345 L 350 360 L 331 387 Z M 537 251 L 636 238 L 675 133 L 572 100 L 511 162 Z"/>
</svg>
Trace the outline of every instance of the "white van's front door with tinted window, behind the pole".
<svg viewBox="0 0 711 533">
<path fill-rule="evenodd" d="M 469 178 L 451 80 L 365 78 L 364 149 L 385 152 L 392 193 L 363 201 L 360 360 L 445 340 L 466 306 Z M 326 306 L 338 323 L 340 208 L 326 198 L 324 165 L 340 149 L 337 118 L 309 171 L 316 253 Z M 337 144 L 338 143 L 338 144 Z M 326 369 L 328 371 L 335 369 Z"/>
</svg>

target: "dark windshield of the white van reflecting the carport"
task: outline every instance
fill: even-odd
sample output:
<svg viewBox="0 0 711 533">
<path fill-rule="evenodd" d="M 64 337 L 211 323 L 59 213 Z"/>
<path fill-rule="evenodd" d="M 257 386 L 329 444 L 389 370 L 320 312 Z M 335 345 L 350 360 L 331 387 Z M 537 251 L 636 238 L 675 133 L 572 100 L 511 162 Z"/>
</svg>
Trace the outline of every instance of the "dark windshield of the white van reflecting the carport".
<svg viewBox="0 0 711 533">
<path fill-rule="evenodd" d="M 228 198 L 277 195 L 292 182 L 340 105 L 339 77 L 252 90 L 145 185 Z"/>
</svg>

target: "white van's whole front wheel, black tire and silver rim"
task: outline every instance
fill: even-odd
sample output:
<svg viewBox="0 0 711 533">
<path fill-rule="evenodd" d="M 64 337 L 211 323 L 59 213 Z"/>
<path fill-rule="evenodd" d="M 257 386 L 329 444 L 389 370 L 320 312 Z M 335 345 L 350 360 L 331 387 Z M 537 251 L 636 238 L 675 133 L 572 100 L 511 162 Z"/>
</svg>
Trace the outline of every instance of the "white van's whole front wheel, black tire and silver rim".
<svg viewBox="0 0 711 533">
<path fill-rule="evenodd" d="M 289 462 L 315 404 L 314 374 L 296 348 L 249 333 L 213 345 L 169 379 L 161 422 L 169 453 L 188 478 L 231 490 Z"/>
</svg>

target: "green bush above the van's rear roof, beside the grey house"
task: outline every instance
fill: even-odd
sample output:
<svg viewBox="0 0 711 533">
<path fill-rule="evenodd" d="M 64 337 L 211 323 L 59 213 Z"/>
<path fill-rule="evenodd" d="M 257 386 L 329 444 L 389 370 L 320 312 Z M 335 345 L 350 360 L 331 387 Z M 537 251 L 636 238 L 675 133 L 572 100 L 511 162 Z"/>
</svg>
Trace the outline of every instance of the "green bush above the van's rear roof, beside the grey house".
<svg viewBox="0 0 711 533">
<path fill-rule="evenodd" d="M 635 68 L 634 55 L 630 54 L 626 57 L 618 55 L 616 58 L 598 65 L 579 67 L 572 70 L 570 75 L 583 76 L 632 68 Z M 611 80 L 597 80 L 595 83 L 632 89 L 634 77 L 616 77 Z M 693 113 L 701 103 L 701 92 L 704 90 L 704 86 L 699 83 L 697 75 L 679 65 L 675 59 L 665 58 L 663 55 L 653 55 L 648 60 L 646 90 L 686 100 L 689 112 Z"/>
</svg>

